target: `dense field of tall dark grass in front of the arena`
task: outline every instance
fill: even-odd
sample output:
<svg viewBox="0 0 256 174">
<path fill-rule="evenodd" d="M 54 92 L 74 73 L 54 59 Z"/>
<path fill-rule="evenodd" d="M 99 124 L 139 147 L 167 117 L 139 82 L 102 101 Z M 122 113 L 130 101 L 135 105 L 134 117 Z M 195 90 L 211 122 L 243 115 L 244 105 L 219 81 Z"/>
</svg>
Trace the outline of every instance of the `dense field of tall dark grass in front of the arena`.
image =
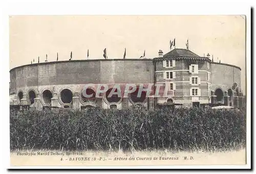
<svg viewBox="0 0 256 174">
<path fill-rule="evenodd" d="M 234 150 L 245 147 L 245 119 L 210 108 L 10 111 L 10 149 Z"/>
</svg>

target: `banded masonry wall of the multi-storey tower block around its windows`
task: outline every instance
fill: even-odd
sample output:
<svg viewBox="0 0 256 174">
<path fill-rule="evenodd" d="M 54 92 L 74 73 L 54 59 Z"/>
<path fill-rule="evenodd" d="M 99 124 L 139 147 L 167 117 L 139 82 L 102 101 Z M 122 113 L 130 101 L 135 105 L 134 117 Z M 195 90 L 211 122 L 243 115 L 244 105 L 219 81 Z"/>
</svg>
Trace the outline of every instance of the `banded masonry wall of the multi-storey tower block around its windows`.
<svg viewBox="0 0 256 174">
<path fill-rule="evenodd" d="M 210 89 L 208 85 L 211 80 L 207 78 L 207 74 L 211 73 L 211 64 L 207 67 L 207 61 L 205 60 L 185 60 L 176 58 L 175 67 L 173 68 L 163 68 L 163 61 L 166 58 L 158 58 L 160 61 L 156 61 L 156 82 L 164 84 L 165 82 L 173 82 L 176 84 L 176 89 L 174 90 L 174 95 L 172 96 L 175 103 L 180 103 L 186 106 L 191 105 L 190 89 L 195 87 L 201 90 L 201 96 L 206 97 L 206 99 L 199 99 L 200 103 L 209 103 L 209 93 Z M 198 64 L 198 74 L 189 73 L 190 64 Z M 163 73 L 165 71 L 175 72 L 175 79 L 164 79 Z M 198 76 L 200 78 L 201 84 L 190 84 L 189 78 L 191 76 Z M 184 99 L 184 97 L 186 97 Z M 157 103 L 166 102 L 167 98 L 157 99 Z"/>
</svg>

